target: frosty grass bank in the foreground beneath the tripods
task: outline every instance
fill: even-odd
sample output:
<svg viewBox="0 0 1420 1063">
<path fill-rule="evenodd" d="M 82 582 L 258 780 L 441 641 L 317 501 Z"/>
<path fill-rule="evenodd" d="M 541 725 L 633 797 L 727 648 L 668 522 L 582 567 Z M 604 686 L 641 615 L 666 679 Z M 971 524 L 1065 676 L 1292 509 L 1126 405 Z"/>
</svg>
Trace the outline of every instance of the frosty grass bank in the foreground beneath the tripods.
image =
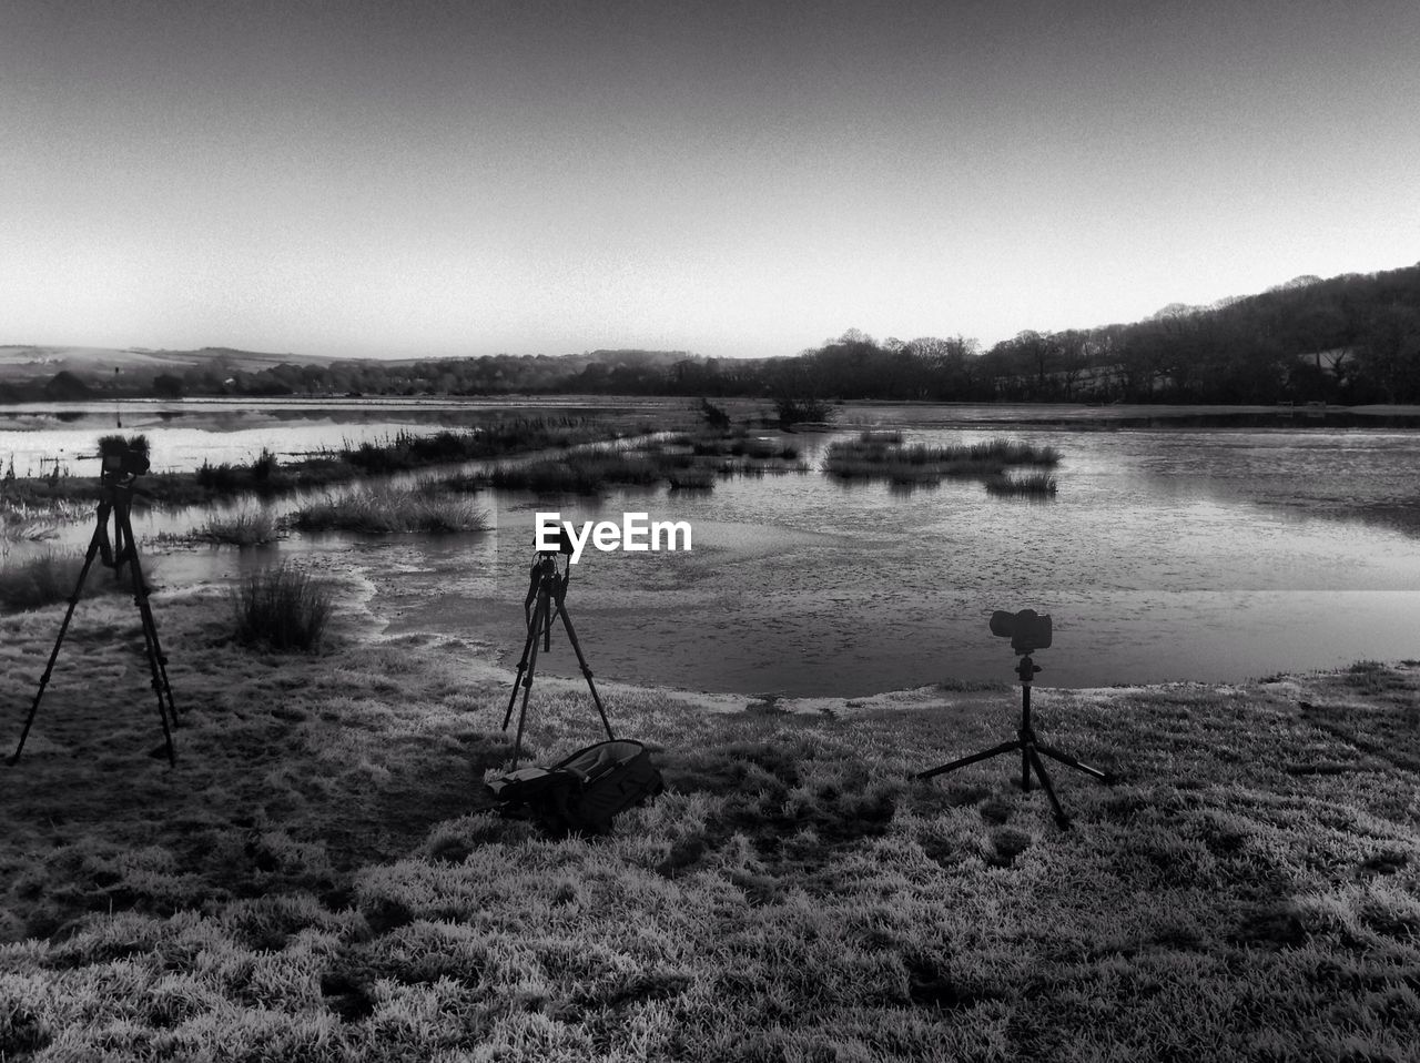
<svg viewBox="0 0 1420 1063">
<path fill-rule="evenodd" d="M 1420 1043 L 1420 662 L 1038 688 L 1075 817 L 995 760 L 1014 694 L 604 684 L 667 793 L 561 841 L 487 810 L 508 674 L 372 640 L 240 645 L 216 590 L 80 607 L 0 769 L 0 1059 L 1402 1060 Z M 58 611 L 0 618 L 13 743 Z M 598 738 L 538 679 L 548 762 Z M 9 750 L 7 750 L 9 752 Z"/>
</svg>

